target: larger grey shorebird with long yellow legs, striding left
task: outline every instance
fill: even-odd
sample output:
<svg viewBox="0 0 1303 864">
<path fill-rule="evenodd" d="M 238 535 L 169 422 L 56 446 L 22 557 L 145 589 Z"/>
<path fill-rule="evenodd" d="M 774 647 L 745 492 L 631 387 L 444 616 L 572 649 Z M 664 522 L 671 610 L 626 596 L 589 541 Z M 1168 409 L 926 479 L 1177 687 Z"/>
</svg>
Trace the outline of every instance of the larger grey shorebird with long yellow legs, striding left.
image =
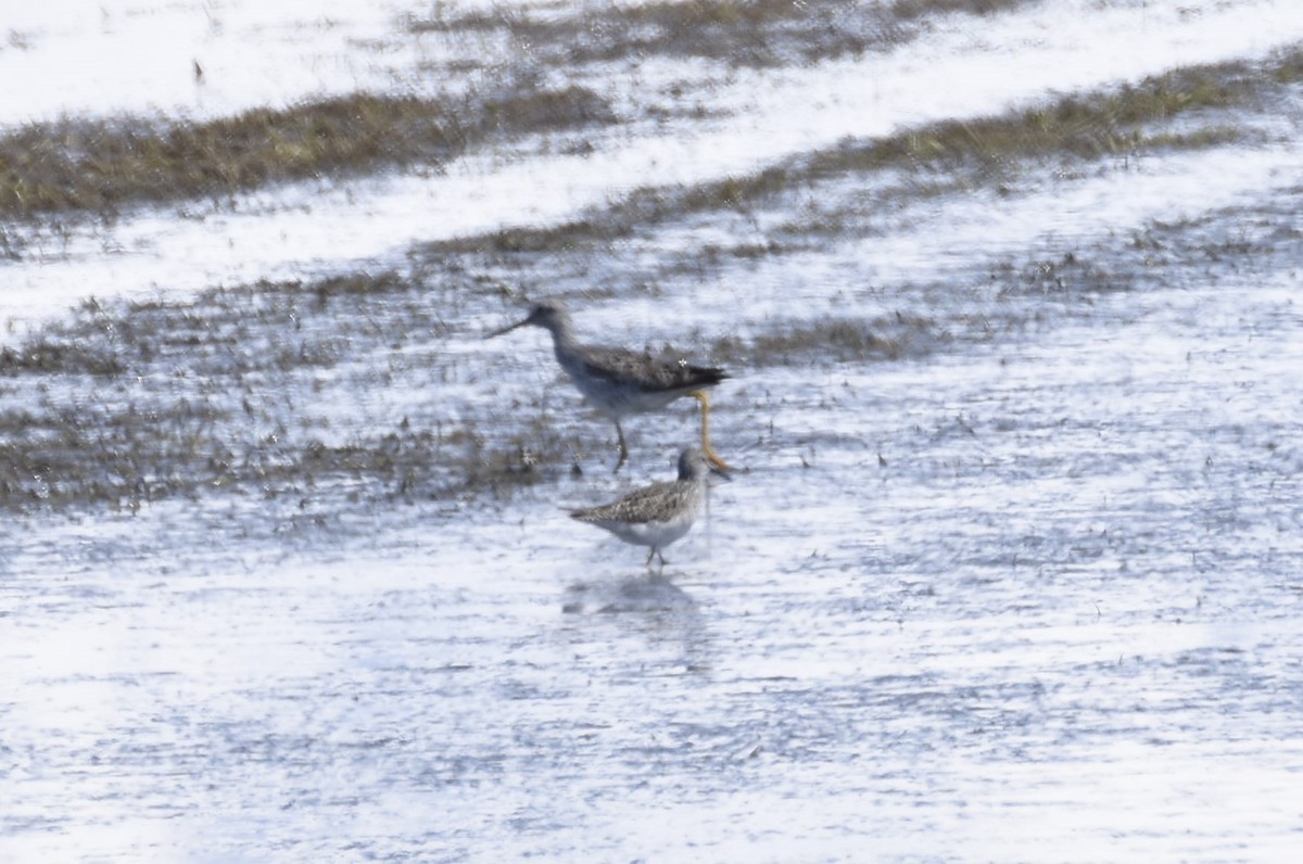
<svg viewBox="0 0 1303 864">
<path fill-rule="evenodd" d="M 719 468 L 728 468 L 710 448 L 710 397 L 705 391 L 728 377 L 723 369 L 693 366 L 687 360 L 666 361 L 646 352 L 624 348 L 581 345 L 571 330 L 569 313 L 555 301 L 537 304 L 528 318 L 496 330 L 486 339 L 528 324 L 542 327 L 552 335 L 556 362 L 584 397 L 615 422 L 615 435 L 620 444 L 620 460 L 615 463 L 615 470 L 620 470 L 629 457 L 620 420 L 629 414 L 661 410 L 683 396 L 692 396 L 701 403 L 701 450 L 706 459 Z"/>
</svg>

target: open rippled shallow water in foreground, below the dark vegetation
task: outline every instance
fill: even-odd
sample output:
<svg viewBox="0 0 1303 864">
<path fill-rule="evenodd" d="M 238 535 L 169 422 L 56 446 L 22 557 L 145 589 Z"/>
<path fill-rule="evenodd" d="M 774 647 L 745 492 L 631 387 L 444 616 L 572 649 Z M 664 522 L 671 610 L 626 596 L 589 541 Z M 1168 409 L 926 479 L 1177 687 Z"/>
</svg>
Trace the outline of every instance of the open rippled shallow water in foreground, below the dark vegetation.
<svg viewBox="0 0 1303 864">
<path fill-rule="evenodd" d="M 9 854 L 1283 856 L 1303 315 L 1251 276 L 835 408 L 739 383 L 775 431 L 663 579 L 550 489 L 356 549 L 177 547 L 189 506 L 29 545 Z"/>
</svg>

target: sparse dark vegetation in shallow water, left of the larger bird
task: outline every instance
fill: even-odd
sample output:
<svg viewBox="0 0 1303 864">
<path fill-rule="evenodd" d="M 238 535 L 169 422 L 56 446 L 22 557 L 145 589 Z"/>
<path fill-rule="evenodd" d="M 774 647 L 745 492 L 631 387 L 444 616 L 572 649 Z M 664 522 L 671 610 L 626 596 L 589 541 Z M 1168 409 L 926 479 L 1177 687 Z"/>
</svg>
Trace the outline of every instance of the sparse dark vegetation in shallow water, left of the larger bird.
<svg viewBox="0 0 1303 864">
<path fill-rule="evenodd" d="M 545 424 L 490 438 L 473 422 L 396 416 L 339 435 L 332 407 L 358 392 L 474 374 L 440 356 L 446 327 L 418 289 L 386 271 L 85 302 L 0 349 L 0 394 L 36 394 L 0 408 L 0 510 L 134 508 L 205 490 L 306 508 L 353 478 L 367 497 L 452 497 L 537 481 L 537 451 L 580 452 Z"/>
</svg>

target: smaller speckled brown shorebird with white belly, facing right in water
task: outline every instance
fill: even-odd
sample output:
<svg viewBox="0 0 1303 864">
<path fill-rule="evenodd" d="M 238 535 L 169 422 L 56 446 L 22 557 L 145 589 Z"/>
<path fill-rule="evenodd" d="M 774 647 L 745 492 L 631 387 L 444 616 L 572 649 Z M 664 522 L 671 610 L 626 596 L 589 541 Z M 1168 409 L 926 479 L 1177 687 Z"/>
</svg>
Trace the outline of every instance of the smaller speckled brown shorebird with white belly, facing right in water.
<svg viewBox="0 0 1303 864">
<path fill-rule="evenodd" d="M 646 566 L 650 567 L 652 559 L 659 556 L 661 567 L 665 567 L 661 550 L 687 534 L 697 520 L 706 497 L 706 478 L 711 473 L 728 480 L 728 474 L 706 461 L 700 450 L 688 447 L 679 455 L 679 480 L 636 489 L 601 507 L 572 510 L 571 519 L 605 528 L 625 543 L 650 546 Z"/>
</svg>

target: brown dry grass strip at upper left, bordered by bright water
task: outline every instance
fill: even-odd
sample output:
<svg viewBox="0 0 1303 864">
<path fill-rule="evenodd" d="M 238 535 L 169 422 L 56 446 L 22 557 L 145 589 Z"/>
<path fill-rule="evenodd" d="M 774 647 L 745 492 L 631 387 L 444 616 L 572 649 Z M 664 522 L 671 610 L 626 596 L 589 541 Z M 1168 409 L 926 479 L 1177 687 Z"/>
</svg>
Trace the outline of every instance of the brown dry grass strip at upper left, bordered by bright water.
<svg viewBox="0 0 1303 864">
<path fill-rule="evenodd" d="M 323 175 L 439 164 L 487 136 L 614 121 L 582 87 L 450 104 L 353 94 L 203 122 L 61 120 L 0 137 L 0 216 L 115 212 Z"/>
</svg>

